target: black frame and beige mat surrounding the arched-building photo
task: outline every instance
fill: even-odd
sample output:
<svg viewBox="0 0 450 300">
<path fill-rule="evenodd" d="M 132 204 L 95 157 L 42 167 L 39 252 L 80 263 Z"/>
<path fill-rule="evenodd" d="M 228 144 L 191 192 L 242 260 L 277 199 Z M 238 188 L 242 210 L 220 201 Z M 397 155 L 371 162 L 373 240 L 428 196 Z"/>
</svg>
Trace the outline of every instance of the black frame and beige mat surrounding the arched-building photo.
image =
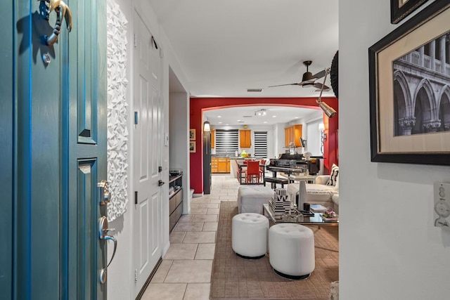
<svg viewBox="0 0 450 300">
<path fill-rule="evenodd" d="M 432 134 L 410 133 L 409 136 L 396 136 L 394 133 L 394 127 L 399 126 L 400 120 L 398 115 L 397 119 L 394 117 L 394 63 L 433 39 L 443 37 L 444 34 L 447 37 L 446 34 L 450 32 L 448 20 L 450 1 L 435 1 L 368 49 L 372 162 L 450 165 L 450 146 L 445 141 L 450 139 L 450 131 Z M 442 34 L 439 36 L 441 30 Z M 390 122 L 392 126 L 386 126 Z M 440 145 L 430 143 L 432 138 L 441 141 Z M 417 141 L 420 143 L 416 143 Z M 395 148 L 397 145 L 401 146 Z M 416 150 L 418 146 L 422 149 Z M 391 147 L 395 149 L 383 149 Z"/>
</svg>

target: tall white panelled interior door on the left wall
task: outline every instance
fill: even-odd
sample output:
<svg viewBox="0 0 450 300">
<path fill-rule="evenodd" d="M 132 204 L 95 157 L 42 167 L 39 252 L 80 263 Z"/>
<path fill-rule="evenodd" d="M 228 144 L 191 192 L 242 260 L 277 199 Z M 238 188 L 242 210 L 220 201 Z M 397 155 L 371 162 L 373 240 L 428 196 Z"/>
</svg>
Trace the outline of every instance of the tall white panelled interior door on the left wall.
<svg viewBox="0 0 450 300">
<path fill-rule="evenodd" d="M 134 243 L 135 296 L 161 257 L 161 58 L 134 12 Z M 136 124 L 137 123 L 137 124 Z"/>
</svg>

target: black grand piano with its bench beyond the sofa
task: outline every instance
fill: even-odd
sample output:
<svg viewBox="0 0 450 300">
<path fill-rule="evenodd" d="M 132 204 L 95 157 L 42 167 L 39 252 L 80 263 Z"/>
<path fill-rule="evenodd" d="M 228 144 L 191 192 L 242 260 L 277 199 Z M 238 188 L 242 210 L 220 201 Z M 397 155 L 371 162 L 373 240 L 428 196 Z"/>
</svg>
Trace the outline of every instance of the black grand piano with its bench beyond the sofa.
<svg viewBox="0 0 450 300">
<path fill-rule="evenodd" d="M 320 162 L 316 157 L 307 161 L 301 154 L 283 153 L 279 158 L 270 159 L 266 169 L 272 172 L 272 177 L 264 178 L 264 185 L 266 185 L 266 182 L 269 182 L 271 183 L 271 188 L 275 189 L 276 183 L 279 183 L 281 188 L 283 188 L 285 184 L 289 183 L 289 180 L 287 178 L 277 178 L 276 174 L 278 172 L 290 175 L 309 171 L 309 174 L 315 175 L 319 172 Z"/>
</svg>

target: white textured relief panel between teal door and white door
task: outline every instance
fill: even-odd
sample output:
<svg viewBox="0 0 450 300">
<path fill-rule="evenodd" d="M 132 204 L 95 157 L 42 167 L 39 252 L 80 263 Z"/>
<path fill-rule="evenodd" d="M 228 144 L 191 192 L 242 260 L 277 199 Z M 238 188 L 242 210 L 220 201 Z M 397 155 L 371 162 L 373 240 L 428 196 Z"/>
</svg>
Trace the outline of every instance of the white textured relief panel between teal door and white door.
<svg viewBox="0 0 450 300">
<path fill-rule="evenodd" d="M 108 182 L 112 199 L 108 221 L 127 211 L 128 136 L 127 128 L 127 24 L 128 20 L 114 0 L 107 1 L 108 62 Z"/>
</svg>

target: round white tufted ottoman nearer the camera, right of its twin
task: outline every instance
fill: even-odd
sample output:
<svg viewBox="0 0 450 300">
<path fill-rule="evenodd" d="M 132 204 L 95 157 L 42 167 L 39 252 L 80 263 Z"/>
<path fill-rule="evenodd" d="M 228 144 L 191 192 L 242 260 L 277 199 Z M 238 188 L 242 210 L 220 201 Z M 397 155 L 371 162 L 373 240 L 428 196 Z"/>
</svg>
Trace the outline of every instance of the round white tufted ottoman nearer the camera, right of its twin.
<svg viewBox="0 0 450 300">
<path fill-rule="evenodd" d="M 314 233 L 294 223 L 276 224 L 269 229 L 269 261 L 278 275 L 293 280 L 309 278 L 316 266 Z"/>
</svg>

